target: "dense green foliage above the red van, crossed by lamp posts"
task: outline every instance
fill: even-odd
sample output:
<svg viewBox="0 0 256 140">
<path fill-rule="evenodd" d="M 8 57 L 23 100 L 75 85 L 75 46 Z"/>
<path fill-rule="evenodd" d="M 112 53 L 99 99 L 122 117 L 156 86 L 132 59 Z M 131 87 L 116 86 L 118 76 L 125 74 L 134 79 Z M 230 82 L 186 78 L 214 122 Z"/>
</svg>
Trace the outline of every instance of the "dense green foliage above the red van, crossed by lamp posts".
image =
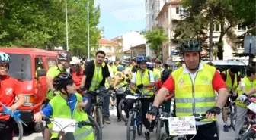
<svg viewBox="0 0 256 140">
<path fill-rule="evenodd" d="M 96 50 L 100 30 L 100 8 L 94 0 L 67 0 L 69 48 L 75 55 L 87 54 L 87 2 L 90 45 Z M 65 0 L 2 0 L 0 2 L 0 45 L 30 48 L 66 48 Z"/>
</svg>

